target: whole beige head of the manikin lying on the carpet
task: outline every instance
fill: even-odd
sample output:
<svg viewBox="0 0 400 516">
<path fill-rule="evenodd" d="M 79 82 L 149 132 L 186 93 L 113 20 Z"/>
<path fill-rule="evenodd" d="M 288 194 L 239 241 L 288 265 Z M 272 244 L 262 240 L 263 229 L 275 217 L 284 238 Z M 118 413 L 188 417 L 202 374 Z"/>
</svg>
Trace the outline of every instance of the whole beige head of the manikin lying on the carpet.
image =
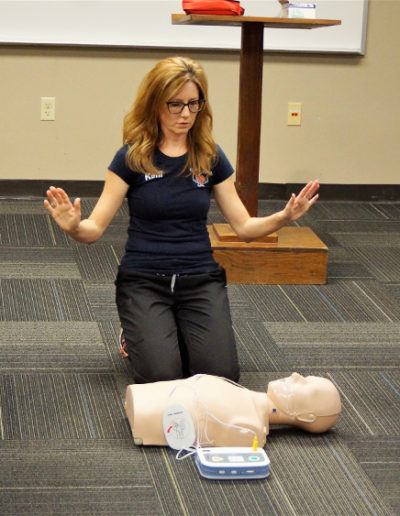
<svg viewBox="0 0 400 516">
<path fill-rule="evenodd" d="M 308 432 L 324 432 L 337 421 L 340 395 L 327 378 L 293 373 L 268 384 L 267 396 L 281 422 Z"/>
</svg>

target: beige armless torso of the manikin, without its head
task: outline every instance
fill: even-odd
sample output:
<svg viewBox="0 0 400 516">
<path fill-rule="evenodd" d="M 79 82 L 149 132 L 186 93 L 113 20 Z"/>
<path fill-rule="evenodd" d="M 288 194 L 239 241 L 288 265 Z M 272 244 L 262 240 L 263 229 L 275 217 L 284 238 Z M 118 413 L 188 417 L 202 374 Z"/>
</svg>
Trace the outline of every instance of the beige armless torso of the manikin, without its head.
<svg viewBox="0 0 400 516">
<path fill-rule="evenodd" d="M 202 445 L 250 446 L 255 435 L 261 446 L 265 444 L 269 430 L 266 394 L 210 375 L 129 385 L 125 409 L 137 444 L 167 444 L 162 418 L 173 404 L 189 411 Z"/>
</svg>

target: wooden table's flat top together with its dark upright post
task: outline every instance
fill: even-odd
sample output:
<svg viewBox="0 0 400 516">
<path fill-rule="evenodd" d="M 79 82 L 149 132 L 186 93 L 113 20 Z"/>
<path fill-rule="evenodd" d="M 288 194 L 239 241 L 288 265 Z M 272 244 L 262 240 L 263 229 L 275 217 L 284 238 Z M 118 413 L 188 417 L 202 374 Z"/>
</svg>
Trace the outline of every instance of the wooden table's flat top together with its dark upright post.
<svg viewBox="0 0 400 516">
<path fill-rule="evenodd" d="M 242 28 L 236 187 L 250 215 L 256 216 L 260 166 L 264 27 L 315 29 L 340 25 L 341 21 L 173 14 L 172 23 L 224 25 Z"/>
</svg>

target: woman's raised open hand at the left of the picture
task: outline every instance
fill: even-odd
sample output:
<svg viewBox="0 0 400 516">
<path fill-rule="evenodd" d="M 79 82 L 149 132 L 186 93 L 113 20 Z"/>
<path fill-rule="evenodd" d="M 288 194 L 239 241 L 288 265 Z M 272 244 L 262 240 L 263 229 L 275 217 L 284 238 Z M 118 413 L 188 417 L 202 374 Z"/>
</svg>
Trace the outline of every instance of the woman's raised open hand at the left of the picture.
<svg viewBox="0 0 400 516">
<path fill-rule="evenodd" d="M 81 200 L 77 198 L 72 203 L 62 188 L 54 186 L 50 186 L 46 195 L 44 207 L 60 228 L 67 233 L 76 232 L 81 221 Z"/>
</svg>

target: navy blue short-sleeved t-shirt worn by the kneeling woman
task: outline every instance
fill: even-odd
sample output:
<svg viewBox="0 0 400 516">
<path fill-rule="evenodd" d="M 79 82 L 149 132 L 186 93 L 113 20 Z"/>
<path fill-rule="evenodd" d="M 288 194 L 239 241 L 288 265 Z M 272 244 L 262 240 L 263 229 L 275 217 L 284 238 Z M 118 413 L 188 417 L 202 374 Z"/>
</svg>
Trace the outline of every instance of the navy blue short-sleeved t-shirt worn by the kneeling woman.
<svg viewBox="0 0 400 516">
<path fill-rule="evenodd" d="M 128 185 L 130 223 L 124 269 L 160 274 L 199 274 L 216 269 L 207 231 L 213 185 L 233 174 L 217 146 L 212 175 L 188 176 L 182 169 L 187 155 L 169 157 L 157 150 L 160 176 L 132 171 L 126 164 L 128 146 L 115 155 L 109 169 Z"/>
</svg>

